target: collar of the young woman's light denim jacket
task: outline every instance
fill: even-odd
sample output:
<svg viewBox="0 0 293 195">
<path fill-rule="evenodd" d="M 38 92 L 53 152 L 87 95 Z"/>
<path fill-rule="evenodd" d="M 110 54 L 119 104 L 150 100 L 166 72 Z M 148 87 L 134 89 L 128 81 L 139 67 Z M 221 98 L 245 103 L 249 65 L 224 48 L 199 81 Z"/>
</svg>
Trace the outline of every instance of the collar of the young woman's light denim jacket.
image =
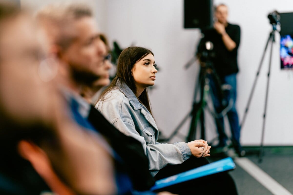
<svg viewBox="0 0 293 195">
<path fill-rule="evenodd" d="M 132 92 L 132 90 L 125 82 L 123 82 L 121 79 L 118 79 L 116 82 L 116 86 L 129 99 L 131 105 L 135 110 L 142 109 L 142 104 L 138 101 L 136 95 Z"/>
</svg>

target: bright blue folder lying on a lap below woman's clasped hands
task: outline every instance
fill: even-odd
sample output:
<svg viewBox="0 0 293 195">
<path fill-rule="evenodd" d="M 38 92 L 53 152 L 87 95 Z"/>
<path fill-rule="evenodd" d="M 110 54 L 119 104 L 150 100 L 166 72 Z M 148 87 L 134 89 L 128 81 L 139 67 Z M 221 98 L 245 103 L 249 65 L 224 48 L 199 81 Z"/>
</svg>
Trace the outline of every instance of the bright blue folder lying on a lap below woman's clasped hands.
<svg viewBox="0 0 293 195">
<path fill-rule="evenodd" d="M 235 163 L 233 162 L 232 158 L 224 158 L 222 160 L 158 180 L 156 181 L 155 185 L 151 187 L 151 190 L 154 191 L 181 182 L 193 180 L 199 177 L 204 177 L 207 175 L 232 170 L 234 168 Z"/>
</svg>

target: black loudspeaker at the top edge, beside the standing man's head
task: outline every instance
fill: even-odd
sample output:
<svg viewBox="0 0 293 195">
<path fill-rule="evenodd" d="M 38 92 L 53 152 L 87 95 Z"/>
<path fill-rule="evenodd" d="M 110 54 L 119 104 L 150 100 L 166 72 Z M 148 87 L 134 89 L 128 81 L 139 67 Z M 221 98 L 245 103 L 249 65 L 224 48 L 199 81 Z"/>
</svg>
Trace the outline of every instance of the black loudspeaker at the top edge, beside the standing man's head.
<svg viewBox="0 0 293 195">
<path fill-rule="evenodd" d="M 184 0 L 184 28 L 213 26 L 213 0 Z"/>
</svg>

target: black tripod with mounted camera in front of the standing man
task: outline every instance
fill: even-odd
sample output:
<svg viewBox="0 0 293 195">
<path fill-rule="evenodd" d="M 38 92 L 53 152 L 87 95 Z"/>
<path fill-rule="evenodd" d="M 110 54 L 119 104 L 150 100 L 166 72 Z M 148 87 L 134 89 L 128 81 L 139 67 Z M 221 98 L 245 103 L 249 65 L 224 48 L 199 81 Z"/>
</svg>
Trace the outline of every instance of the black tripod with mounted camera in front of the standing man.
<svg viewBox="0 0 293 195">
<path fill-rule="evenodd" d="M 199 76 L 195 85 L 194 90 L 194 96 L 193 96 L 193 106 L 191 111 L 183 118 L 183 120 L 179 123 L 179 125 L 175 128 L 173 133 L 168 137 L 167 139 L 160 139 L 160 141 L 170 141 L 176 134 L 178 134 L 181 127 L 185 124 L 185 122 L 188 120 L 189 117 L 191 117 L 190 122 L 190 128 L 188 132 L 188 136 L 184 137 L 185 140 L 193 141 L 196 137 L 196 130 L 197 130 L 197 124 L 198 121 L 200 122 L 200 133 L 201 133 L 201 139 L 205 139 L 205 118 L 204 118 L 204 109 L 205 106 L 208 104 L 207 98 L 211 93 L 210 90 L 210 79 L 213 79 L 215 82 L 215 87 L 217 87 L 218 91 L 221 91 L 221 85 L 218 81 L 217 75 L 214 73 L 214 67 L 213 67 L 213 59 L 215 57 L 215 54 L 213 52 L 213 44 L 212 42 L 206 41 L 205 39 L 202 39 L 199 45 L 199 51 L 198 55 L 193 57 L 188 63 L 185 65 L 185 68 L 187 69 L 190 65 L 192 65 L 197 59 L 200 59 L 200 71 Z M 198 57 L 198 58 L 197 58 Z M 200 91 L 200 100 L 197 101 L 197 94 L 198 91 Z M 233 102 L 232 102 L 233 103 Z M 231 103 L 229 103 L 229 106 Z M 209 111 L 214 116 L 216 122 L 219 122 L 219 118 L 223 117 L 225 112 L 229 109 L 229 106 L 227 106 L 223 111 L 220 113 L 213 112 L 212 109 L 209 109 Z M 209 107 L 209 106 L 207 106 Z M 222 131 L 224 132 L 224 130 Z"/>
</svg>

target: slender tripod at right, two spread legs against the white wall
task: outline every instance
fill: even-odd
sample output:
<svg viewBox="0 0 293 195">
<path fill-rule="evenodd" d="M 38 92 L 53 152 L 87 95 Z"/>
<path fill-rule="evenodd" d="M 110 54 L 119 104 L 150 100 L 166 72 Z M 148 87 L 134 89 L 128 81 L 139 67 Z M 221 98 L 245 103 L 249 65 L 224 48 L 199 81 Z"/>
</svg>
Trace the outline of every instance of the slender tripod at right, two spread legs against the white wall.
<svg viewBox="0 0 293 195">
<path fill-rule="evenodd" d="M 254 93 L 254 89 L 255 89 L 255 86 L 256 86 L 256 82 L 258 80 L 258 75 L 260 73 L 260 69 L 263 65 L 263 60 L 264 60 L 264 57 L 265 57 L 265 53 L 267 51 L 267 48 L 268 48 L 268 44 L 271 42 L 271 48 L 270 48 L 270 61 L 269 61 L 269 69 L 268 69 L 268 80 L 267 80 L 267 88 L 266 88 L 266 93 L 265 93 L 265 109 L 264 109 L 264 113 L 263 113 L 263 127 L 262 127 L 262 134 L 261 134 L 261 142 L 260 142 L 260 150 L 259 150 L 259 155 L 258 155 L 258 162 L 262 162 L 262 158 L 263 158 L 263 138 L 264 138 L 264 134 L 265 134 L 265 117 L 266 117 L 266 113 L 267 113 L 267 103 L 268 103 L 268 92 L 269 92 L 269 84 L 270 84 L 270 71 L 271 71 L 271 64 L 272 64 L 272 49 L 273 49 L 273 43 L 275 42 L 275 32 L 277 30 L 277 25 L 276 24 L 272 24 L 272 32 L 270 32 L 270 36 L 268 38 L 268 41 L 265 45 L 265 50 L 263 51 L 263 55 L 262 55 L 262 58 L 260 60 L 260 64 L 258 66 L 258 71 L 256 73 L 256 76 L 255 76 L 255 79 L 254 79 L 254 82 L 253 82 L 253 86 L 252 86 L 252 89 L 251 89 L 251 92 L 249 94 L 249 98 L 248 98 L 248 102 L 247 102 L 247 105 L 246 105 L 246 108 L 245 108 L 245 113 L 243 115 L 243 119 L 241 121 L 241 125 L 240 125 L 240 129 L 243 127 L 243 124 L 245 122 L 245 119 L 246 119 L 246 116 L 247 116 L 247 113 L 248 113 L 248 109 L 249 109 L 249 106 L 250 106 L 250 103 L 251 103 L 251 99 L 252 99 L 252 96 L 253 96 L 253 93 Z"/>
</svg>

